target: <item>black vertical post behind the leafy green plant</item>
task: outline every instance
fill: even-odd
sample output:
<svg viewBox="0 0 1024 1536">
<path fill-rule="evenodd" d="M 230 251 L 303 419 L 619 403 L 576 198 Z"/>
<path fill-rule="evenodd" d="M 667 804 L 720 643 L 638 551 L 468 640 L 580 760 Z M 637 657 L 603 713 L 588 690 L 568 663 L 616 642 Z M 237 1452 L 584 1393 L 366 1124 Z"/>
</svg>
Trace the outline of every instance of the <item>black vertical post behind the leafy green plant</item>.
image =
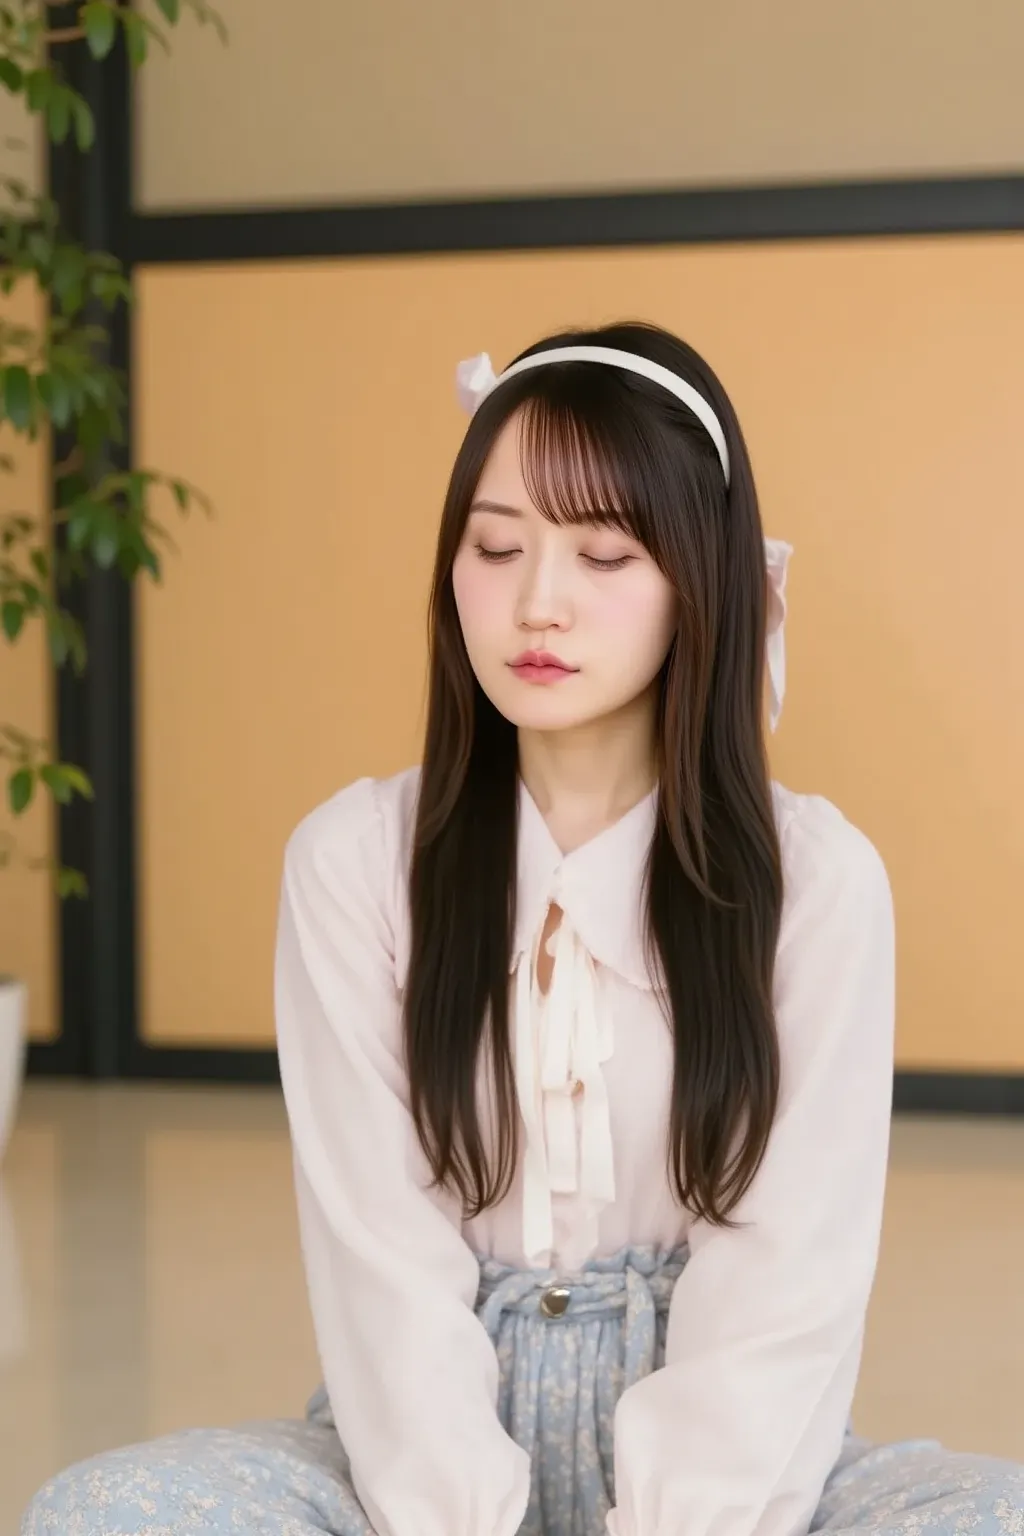
<svg viewBox="0 0 1024 1536">
<path fill-rule="evenodd" d="M 54 9 L 54 26 L 74 26 L 75 6 Z M 84 41 L 55 48 L 68 80 L 95 117 L 95 144 L 81 154 L 74 141 L 49 155 L 51 197 L 66 235 L 89 250 L 127 255 L 132 195 L 130 66 L 124 41 L 95 60 Z M 120 306 L 97 316 L 109 332 L 107 361 L 127 373 L 129 315 Z M 60 462 L 68 444 L 55 441 Z M 129 449 L 112 459 L 127 467 Z M 64 762 L 91 776 L 95 802 L 75 800 L 58 813 L 58 852 L 89 882 L 86 900 L 60 908 L 61 1041 L 32 1052 L 43 1071 L 118 1077 L 127 1071 L 135 1038 L 135 805 L 132 711 L 132 594 L 117 571 L 91 570 L 69 594 L 84 627 L 84 676 L 63 668 L 57 677 L 57 742 Z"/>
</svg>

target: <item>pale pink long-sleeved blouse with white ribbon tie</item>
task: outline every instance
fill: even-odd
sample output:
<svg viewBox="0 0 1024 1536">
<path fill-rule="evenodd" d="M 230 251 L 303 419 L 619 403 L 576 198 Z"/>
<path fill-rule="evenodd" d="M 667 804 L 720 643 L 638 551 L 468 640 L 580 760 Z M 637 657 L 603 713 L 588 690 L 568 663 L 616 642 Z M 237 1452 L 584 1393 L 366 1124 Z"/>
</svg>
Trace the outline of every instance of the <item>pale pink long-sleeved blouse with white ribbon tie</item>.
<svg viewBox="0 0 1024 1536">
<path fill-rule="evenodd" d="M 530 1461 L 502 1428 L 474 1316 L 479 1258 L 577 1269 L 626 1244 L 691 1258 L 666 1366 L 616 1413 L 613 1536 L 795 1536 L 838 1456 L 881 1229 L 894 925 L 870 843 L 775 786 L 783 1060 L 768 1155 L 711 1227 L 666 1170 L 672 1041 L 645 963 L 654 797 L 563 856 L 520 791 L 513 948 L 525 1147 L 500 1206 L 428 1189 L 401 994 L 418 773 L 364 779 L 290 840 L 276 963 L 281 1075 L 327 1392 L 379 1536 L 514 1536 Z M 551 903 L 547 994 L 537 955 Z"/>
</svg>

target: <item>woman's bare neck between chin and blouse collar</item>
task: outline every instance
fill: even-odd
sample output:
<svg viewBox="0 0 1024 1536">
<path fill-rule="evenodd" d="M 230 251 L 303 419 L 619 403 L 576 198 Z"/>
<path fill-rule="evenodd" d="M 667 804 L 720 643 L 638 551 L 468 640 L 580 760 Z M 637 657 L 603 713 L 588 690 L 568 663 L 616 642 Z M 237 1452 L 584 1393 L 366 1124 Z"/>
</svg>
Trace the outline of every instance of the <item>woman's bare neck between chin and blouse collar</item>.
<svg viewBox="0 0 1024 1536">
<path fill-rule="evenodd" d="M 657 783 L 656 687 L 567 731 L 519 731 L 519 773 L 563 852 L 597 837 Z"/>
</svg>

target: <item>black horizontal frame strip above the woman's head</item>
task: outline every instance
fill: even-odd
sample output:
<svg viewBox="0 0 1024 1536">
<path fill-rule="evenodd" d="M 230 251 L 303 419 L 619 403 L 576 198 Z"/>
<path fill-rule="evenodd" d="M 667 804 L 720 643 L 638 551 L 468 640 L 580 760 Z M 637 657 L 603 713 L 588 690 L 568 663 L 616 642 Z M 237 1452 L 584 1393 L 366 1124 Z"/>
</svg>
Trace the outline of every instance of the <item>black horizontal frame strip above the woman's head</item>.
<svg viewBox="0 0 1024 1536">
<path fill-rule="evenodd" d="M 1024 229 L 1024 175 L 134 214 L 135 263 L 553 250 Z"/>
</svg>

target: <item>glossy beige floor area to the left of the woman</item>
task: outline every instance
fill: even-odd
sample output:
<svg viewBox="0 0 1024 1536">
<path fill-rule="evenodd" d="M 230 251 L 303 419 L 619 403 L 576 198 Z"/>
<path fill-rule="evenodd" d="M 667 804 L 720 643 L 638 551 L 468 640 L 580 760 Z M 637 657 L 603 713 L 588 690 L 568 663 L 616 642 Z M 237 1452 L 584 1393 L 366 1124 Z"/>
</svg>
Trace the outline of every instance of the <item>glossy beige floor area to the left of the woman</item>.
<svg viewBox="0 0 1024 1536">
<path fill-rule="evenodd" d="M 29 1084 L 3 1164 L 0 1531 L 58 1467 L 301 1413 L 318 1379 L 272 1089 Z M 5 1261 L 8 1244 L 3 1244 Z M 0 1281 L 0 1286 L 3 1283 Z"/>
</svg>

